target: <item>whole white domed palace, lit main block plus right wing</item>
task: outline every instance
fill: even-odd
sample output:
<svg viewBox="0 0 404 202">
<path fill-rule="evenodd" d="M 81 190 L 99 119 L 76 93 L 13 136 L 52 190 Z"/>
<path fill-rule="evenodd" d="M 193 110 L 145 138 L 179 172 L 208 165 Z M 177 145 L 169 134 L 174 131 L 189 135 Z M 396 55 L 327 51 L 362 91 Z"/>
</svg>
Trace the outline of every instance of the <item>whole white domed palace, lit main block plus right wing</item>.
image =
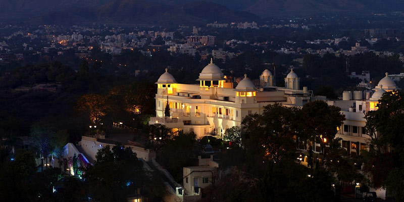
<svg viewBox="0 0 404 202">
<path fill-rule="evenodd" d="M 360 155 L 367 149 L 369 136 L 364 132 L 364 116 L 370 110 L 377 110 L 378 100 L 386 91 L 398 89 L 387 76 L 382 78 L 372 91 L 344 91 L 342 99 L 327 100 L 324 96 L 313 96 L 311 90 L 300 90 L 300 78 L 293 69 L 286 76 L 285 87 L 274 85 L 274 76 L 269 70 L 260 75 L 258 86 L 244 75 L 233 87 L 221 69 L 212 60 L 200 73 L 198 84 L 180 84 L 167 71 L 156 82 L 156 117 L 149 124 L 164 124 L 173 130 L 193 131 L 197 138 L 205 135 L 222 137 L 225 130 L 241 125 L 249 114 L 262 113 L 264 106 L 281 103 L 284 106 L 301 107 L 312 100 L 324 100 L 328 105 L 341 108 L 345 121 L 338 127 L 336 137 L 342 138 L 341 146 L 350 154 Z M 167 102 L 170 117 L 165 117 Z M 302 146 L 301 149 L 305 146 Z M 315 151 L 320 151 L 316 144 Z"/>
</svg>

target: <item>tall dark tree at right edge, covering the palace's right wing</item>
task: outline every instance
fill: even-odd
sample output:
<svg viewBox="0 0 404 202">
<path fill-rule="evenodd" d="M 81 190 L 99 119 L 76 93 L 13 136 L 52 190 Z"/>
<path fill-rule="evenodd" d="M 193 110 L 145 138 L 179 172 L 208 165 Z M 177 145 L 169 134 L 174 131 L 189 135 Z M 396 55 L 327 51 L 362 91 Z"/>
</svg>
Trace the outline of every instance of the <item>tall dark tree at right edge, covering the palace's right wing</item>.
<svg viewBox="0 0 404 202">
<path fill-rule="evenodd" d="M 383 186 L 397 201 L 404 198 L 404 91 L 385 92 L 378 109 L 366 114 L 366 132 L 372 138 L 366 170 L 373 186 Z"/>
</svg>

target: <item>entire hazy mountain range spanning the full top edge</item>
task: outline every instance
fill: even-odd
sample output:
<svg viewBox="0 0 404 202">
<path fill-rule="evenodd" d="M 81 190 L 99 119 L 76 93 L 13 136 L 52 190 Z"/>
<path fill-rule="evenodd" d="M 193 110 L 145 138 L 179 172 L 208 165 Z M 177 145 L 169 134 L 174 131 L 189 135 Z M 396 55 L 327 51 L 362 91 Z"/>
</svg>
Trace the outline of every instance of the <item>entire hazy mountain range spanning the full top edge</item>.
<svg viewBox="0 0 404 202">
<path fill-rule="evenodd" d="M 205 24 L 404 11 L 403 0 L 0 0 L 0 23 Z M 235 11 L 238 10 L 238 11 Z M 258 17 L 260 16 L 260 17 Z"/>
</svg>

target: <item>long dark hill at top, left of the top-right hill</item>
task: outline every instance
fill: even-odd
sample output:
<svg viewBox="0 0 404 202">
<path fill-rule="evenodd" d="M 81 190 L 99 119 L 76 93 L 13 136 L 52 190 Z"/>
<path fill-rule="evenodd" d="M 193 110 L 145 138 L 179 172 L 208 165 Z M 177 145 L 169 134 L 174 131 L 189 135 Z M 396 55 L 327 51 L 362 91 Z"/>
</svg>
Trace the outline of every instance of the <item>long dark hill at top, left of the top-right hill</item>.
<svg viewBox="0 0 404 202">
<path fill-rule="evenodd" d="M 212 2 L 165 5 L 143 0 L 115 0 L 96 8 L 69 8 L 30 18 L 31 24 L 153 24 L 202 25 L 209 22 L 260 21 L 243 11 L 232 11 Z"/>
</svg>

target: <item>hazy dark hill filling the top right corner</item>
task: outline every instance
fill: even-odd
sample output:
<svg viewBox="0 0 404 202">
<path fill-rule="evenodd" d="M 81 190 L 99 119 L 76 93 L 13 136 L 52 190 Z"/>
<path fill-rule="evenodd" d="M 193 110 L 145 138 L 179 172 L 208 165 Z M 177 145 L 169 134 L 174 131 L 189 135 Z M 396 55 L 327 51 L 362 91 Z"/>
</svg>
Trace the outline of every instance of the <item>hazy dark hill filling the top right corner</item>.
<svg viewBox="0 0 404 202">
<path fill-rule="evenodd" d="M 258 0 L 244 11 L 261 17 L 326 13 L 371 14 L 404 11 L 402 0 Z"/>
</svg>

